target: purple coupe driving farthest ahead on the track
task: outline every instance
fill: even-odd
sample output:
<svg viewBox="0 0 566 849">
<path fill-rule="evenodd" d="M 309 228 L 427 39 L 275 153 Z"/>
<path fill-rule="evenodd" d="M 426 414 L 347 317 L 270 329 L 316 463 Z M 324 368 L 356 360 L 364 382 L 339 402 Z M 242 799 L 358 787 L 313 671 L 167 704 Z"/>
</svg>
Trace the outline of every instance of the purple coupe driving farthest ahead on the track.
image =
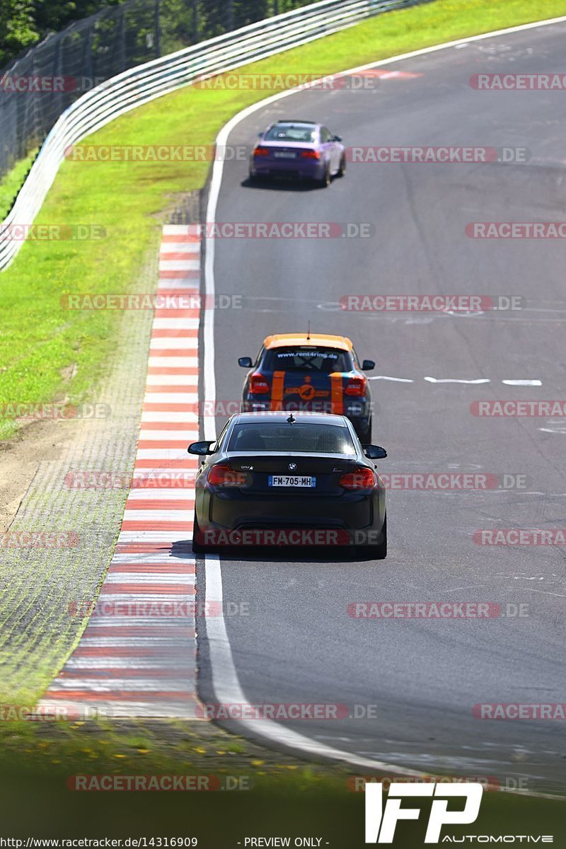
<svg viewBox="0 0 566 849">
<path fill-rule="evenodd" d="M 313 121 L 276 121 L 260 133 L 252 150 L 249 179 L 294 177 L 328 186 L 332 177 L 345 174 L 341 141 L 340 136 Z"/>
</svg>

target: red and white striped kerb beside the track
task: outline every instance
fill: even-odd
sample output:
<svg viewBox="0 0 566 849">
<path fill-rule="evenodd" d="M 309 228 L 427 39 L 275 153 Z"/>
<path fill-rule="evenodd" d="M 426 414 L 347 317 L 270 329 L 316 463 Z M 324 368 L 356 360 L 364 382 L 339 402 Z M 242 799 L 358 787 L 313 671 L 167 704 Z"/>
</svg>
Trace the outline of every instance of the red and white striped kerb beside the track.
<svg viewBox="0 0 566 849">
<path fill-rule="evenodd" d="M 171 251 L 175 261 L 164 261 Z M 184 261 L 183 254 L 190 258 Z M 180 290 L 199 295 L 197 225 L 165 226 L 160 257 L 160 295 Z M 171 318 L 165 301 L 154 314 L 136 483 L 97 608 L 39 702 L 38 710 L 50 715 L 59 711 L 60 716 L 64 709 L 64 716 L 77 718 L 97 712 L 198 718 L 191 550 L 196 460 L 188 457 L 187 446 L 199 438 L 199 363 L 196 356 L 182 357 L 179 349 L 196 352 L 199 310 L 179 309 L 179 318 Z M 183 472 L 188 486 L 167 481 L 167 475 Z M 143 486 L 144 478 L 149 486 Z M 173 552 L 174 543 L 182 550 Z"/>
</svg>

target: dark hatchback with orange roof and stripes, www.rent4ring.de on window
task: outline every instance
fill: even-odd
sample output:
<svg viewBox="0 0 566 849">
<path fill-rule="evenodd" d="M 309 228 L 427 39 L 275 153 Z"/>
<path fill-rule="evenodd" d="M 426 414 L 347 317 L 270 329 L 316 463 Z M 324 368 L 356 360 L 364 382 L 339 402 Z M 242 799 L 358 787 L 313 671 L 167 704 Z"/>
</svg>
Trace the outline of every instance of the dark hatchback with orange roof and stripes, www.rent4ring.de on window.
<svg viewBox="0 0 566 849">
<path fill-rule="evenodd" d="M 372 441 L 372 396 L 365 371 L 346 336 L 286 333 L 267 336 L 244 381 L 242 412 L 255 410 L 339 413 L 350 419 L 361 441 Z"/>
</svg>

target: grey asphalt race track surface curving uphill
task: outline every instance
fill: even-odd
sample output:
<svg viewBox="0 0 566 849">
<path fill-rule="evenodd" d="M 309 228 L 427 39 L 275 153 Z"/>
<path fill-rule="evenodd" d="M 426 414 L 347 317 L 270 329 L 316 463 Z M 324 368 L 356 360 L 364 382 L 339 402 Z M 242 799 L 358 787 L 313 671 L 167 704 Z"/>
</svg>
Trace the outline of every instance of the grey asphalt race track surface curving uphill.
<svg viewBox="0 0 566 849">
<path fill-rule="evenodd" d="M 216 428 L 226 419 L 221 404 L 238 399 L 237 357 L 310 320 L 313 330 L 350 335 L 360 356 L 378 363 L 376 378 L 403 379 L 373 380 L 384 473 L 526 475 L 522 488 L 506 490 L 392 490 L 381 563 L 299 553 L 221 559 L 225 602 L 249 603 L 249 616 L 225 619 L 247 700 L 369 710 L 283 723 L 354 761 L 562 789 L 559 722 L 482 721 L 473 710 L 563 701 L 564 549 L 478 545 L 474 532 L 563 525 L 566 428 L 557 419 L 481 418 L 471 405 L 563 397 L 566 251 L 561 239 L 471 239 L 466 226 L 563 219 L 562 93 L 479 91 L 469 81 L 566 70 L 565 31 L 563 23 L 535 27 L 403 59 L 394 66 L 402 73 L 377 92 L 294 93 L 229 136 L 249 144 L 269 121 L 292 115 L 323 121 L 362 148 L 527 151 L 527 161 L 485 164 L 351 163 L 325 190 L 252 188 L 246 163 L 225 164 L 218 222 L 368 223 L 373 236 L 216 239 L 217 293 L 242 295 L 244 304 L 215 311 Z M 345 295 L 366 293 L 518 295 L 526 306 L 475 315 L 339 309 Z M 205 577 L 199 566 L 199 592 Z M 475 620 L 349 616 L 350 603 L 366 601 L 526 607 L 524 616 Z M 215 701 L 210 646 L 205 633 L 199 638 L 200 694 Z"/>
</svg>

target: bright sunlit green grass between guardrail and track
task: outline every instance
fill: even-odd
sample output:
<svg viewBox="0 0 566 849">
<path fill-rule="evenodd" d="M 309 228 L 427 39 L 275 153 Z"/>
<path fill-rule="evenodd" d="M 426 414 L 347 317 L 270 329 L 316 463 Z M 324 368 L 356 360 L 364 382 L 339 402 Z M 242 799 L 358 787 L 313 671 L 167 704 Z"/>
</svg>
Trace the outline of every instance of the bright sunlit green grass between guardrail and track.
<svg viewBox="0 0 566 849">
<path fill-rule="evenodd" d="M 436 0 L 379 15 L 336 35 L 249 65 L 250 72 L 330 73 L 458 37 L 566 13 L 564 0 Z M 134 110 L 87 141 L 100 144 L 210 144 L 238 110 L 265 91 L 186 87 Z M 183 192 L 205 183 L 209 163 L 65 161 L 38 224 L 94 224 L 103 239 L 26 242 L 0 276 L 0 405 L 92 400 L 115 344 L 113 312 L 71 312 L 61 295 L 136 291 L 144 256 L 156 250 L 160 222 Z M 245 163 L 242 164 L 244 174 Z M 20 163 L 9 177 L 25 172 Z M 13 183 L 11 183 L 13 184 Z M 10 189 L 6 188 L 9 194 Z M 0 195 L 0 203 L 1 203 Z M 64 383 L 64 370 L 76 376 Z M 0 421 L 0 438 L 14 432 Z"/>
</svg>

